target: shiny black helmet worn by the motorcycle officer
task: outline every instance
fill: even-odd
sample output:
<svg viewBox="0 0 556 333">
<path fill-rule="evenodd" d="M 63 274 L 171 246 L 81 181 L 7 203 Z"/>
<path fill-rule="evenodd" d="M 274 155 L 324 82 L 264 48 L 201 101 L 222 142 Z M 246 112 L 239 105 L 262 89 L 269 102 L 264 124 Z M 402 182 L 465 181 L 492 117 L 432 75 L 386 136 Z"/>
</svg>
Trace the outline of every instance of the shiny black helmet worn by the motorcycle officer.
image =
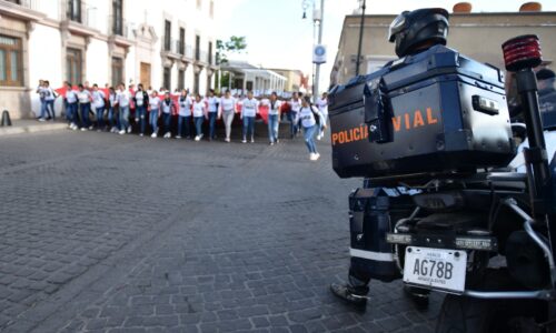
<svg viewBox="0 0 556 333">
<path fill-rule="evenodd" d="M 390 23 L 388 40 L 396 41 L 399 58 L 415 53 L 423 44 L 446 44 L 448 11 L 441 8 L 425 8 L 404 11 Z"/>
</svg>

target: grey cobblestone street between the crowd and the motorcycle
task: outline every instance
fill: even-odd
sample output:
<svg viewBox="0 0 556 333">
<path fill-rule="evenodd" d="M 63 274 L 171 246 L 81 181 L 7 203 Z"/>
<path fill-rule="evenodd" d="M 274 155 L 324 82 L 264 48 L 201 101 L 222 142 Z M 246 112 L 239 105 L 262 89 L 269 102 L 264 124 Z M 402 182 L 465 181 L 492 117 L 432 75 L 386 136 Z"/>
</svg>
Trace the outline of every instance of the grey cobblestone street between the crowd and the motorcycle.
<svg viewBox="0 0 556 333">
<path fill-rule="evenodd" d="M 269 147 L 54 131 L 0 140 L 2 332 L 430 332 L 399 282 L 346 279 L 358 180 Z"/>
</svg>

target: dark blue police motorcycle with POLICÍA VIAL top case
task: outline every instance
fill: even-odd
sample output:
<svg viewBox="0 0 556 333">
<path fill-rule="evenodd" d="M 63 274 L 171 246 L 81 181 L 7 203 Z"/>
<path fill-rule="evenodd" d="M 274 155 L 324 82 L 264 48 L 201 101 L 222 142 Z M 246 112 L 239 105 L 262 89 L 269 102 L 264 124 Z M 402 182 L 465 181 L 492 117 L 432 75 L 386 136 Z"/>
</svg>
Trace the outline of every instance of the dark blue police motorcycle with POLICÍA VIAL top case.
<svg viewBox="0 0 556 333">
<path fill-rule="evenodd" d="M 533 71 L 539 40 L 516 37 L 503 52 L 525 123 L 509 120 L 503 71 L 441 43 L 329 93 L 332 167 L 365 178 L 349 198 L 351 270 L 401 279 L 421 297 L 446 293 L 439 333 L 556 332 L 556 154 Z M 517 133 L 520 171 L 507 167 Z"/>
</svg>

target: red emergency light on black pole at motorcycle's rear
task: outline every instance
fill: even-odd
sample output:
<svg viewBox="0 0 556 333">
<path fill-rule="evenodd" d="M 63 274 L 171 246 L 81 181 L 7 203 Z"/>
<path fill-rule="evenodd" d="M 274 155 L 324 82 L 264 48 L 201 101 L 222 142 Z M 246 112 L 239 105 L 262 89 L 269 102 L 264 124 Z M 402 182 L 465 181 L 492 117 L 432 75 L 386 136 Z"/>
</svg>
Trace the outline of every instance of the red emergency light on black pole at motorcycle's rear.
<svg viewBox="0 0 556 333">
<path fill-rule="evenodd" d="M 535 68 L 543 62 L 540 42 L 536 34 L 515 37 L 502 44 L 502 49 L 506 69 L 512 72 Z"/>
</svg>

